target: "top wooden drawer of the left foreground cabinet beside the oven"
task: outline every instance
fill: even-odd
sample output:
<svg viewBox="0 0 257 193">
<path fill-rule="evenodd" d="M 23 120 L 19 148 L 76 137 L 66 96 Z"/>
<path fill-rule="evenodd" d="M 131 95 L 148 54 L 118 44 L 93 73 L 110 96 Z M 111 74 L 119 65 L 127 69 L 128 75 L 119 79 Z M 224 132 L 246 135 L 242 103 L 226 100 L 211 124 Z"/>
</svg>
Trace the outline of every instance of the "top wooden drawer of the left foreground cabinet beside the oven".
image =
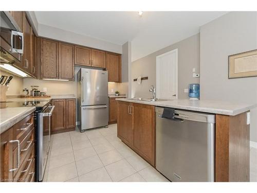
<svg viewBox="0 0 257 193">
<path fill-rule="evenodd" d="M 17 124 L 13 126 L 13 138 L 14 138 L 13 140 L 18 139 L 20 140 L 20 142 L 22 142 L 24 137 L 27 136 L 29 131 L 34 126 L 33 114 L 34 113 L 31 113 L 30 115 L 22 119 L 20 122 L 17 122 Z M 15 149 L 16 147 L 17 147 L 17 144 L 13 146 L 13 149 Z"/>
</svg>

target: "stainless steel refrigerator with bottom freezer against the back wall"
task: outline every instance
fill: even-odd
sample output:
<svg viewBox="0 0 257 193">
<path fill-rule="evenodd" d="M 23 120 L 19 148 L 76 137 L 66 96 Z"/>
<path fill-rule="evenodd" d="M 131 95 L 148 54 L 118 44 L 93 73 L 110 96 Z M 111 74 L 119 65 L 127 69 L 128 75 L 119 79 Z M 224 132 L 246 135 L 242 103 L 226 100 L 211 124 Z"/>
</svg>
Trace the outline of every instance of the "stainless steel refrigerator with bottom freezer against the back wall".
<svg viewBox="0 0 257 193">
<path fill-rule="evenodd" d="M 77 74 L 79 129 L 108 126 L 108 73 L 80 68 Z"/>
</svg>

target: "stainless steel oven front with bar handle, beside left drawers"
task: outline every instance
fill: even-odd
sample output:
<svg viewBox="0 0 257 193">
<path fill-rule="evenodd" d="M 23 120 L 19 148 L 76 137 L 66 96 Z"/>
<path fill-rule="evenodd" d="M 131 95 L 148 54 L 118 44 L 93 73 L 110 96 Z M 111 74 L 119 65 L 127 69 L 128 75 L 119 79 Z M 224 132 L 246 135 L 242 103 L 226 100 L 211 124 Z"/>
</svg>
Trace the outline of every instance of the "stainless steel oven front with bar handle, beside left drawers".
<svg viewBox="0 0 257 193">
<path fill-rule="evenodd" d="M 38 113 L 38 181 L 42 181 L 44 178 L 44 172 L 51 142 L 51 116 L 53 110 L 54 106 L 49 105 L 42 112 Z"/>
</svg>

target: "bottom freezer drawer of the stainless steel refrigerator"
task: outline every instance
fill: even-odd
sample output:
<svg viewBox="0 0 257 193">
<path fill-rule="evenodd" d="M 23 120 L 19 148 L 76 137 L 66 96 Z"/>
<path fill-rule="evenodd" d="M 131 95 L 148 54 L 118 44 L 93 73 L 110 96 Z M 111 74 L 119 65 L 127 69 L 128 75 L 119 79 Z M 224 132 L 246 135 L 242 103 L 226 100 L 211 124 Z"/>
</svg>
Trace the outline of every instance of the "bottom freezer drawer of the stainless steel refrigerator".
<svg viewBox="0 0 257 193">
<path fill-rule="evenodd" d="M 81 107 L 81 130 L 108 125 L 107 105 Z"/>
</svg>

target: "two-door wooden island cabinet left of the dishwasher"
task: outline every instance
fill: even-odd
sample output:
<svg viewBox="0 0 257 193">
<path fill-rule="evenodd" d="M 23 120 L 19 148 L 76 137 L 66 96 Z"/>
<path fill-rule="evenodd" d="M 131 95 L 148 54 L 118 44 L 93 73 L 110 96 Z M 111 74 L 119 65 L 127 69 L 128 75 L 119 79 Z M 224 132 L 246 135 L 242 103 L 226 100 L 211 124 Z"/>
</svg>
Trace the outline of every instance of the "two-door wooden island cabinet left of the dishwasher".
<svg viewBox="0 0 257 193">
<path fill-rule="evenodd" d="M 118 101 L 118 137 L 155 166 L 154 106 Z"/>
</svg>

